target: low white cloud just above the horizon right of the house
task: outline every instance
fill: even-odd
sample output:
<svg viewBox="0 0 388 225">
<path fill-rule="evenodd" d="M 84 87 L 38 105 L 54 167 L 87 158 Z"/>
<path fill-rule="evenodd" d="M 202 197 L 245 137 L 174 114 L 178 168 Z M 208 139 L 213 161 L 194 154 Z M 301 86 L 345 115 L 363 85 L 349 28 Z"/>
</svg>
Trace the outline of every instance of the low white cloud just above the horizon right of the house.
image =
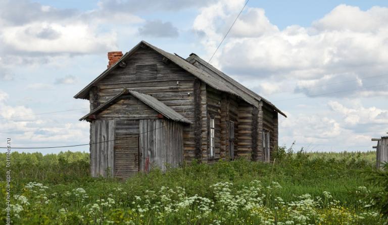
<svg viewBox="0 0 388 225">
<path fill-rule="evenodd" d="M 287 113 L 279 118 L 279 144 L 296 141 L 307 150 L 370 150 L 372 137 L 384 134 L 388 126 L 388 110 L 364 107 L 357 100 L 327 102 L 315 112 Z M 314 148 L 314 149 L 312 149 Z"/>
</svg>

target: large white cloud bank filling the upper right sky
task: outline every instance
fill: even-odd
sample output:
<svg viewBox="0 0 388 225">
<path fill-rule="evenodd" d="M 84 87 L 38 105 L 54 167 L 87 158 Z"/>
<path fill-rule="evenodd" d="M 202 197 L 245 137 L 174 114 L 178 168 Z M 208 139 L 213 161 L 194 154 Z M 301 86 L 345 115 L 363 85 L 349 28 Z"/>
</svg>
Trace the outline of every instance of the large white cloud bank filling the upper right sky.
<svg viewBox="0 0 388 225">
<path fill-rule="evenodd" d="M 204 8 L 193 23 L 209 55 L 244 5 L 236 1 L 233 7 L 225 6 L 226 2 Z M 297 83 L 296 92 L 311 97 L 344 90 L 352 91 L 335 96 L 388 95 L 388 85 L 371 88 L 388 84 L 382 76 L 388 75 L 387 17 L 388 8 L 362 11 L 340 5 L 311 27 L 293 25 L 279 30 L 264 10 L 248 8 L 212 64 L 249 81 L 259 92 L 268 93 L 268 87 L 263 87 L 267 82 L 276 83 L 277 89 Z"/>
</svg>

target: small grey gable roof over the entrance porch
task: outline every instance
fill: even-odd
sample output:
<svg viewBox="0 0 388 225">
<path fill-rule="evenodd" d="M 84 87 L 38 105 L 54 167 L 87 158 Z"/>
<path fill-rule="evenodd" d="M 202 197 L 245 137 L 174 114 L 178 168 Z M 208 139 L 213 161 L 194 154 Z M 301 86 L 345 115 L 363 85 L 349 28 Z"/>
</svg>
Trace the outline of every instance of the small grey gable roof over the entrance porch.
<svg viewBox="0 0 388 225">
<path fill-rule="evenodd" d="M 117 94 L 116 96 L 111 98 L 109 101 L 105 102 L 104 104 L 102 104 L 99 107 L 92 110 L 90 113 L 83 116 L 80 119 L 80 121 L 86 120 L 90 115 L 100 113 L 102 110 L 106 109 L 107 107 L 111 106 L 116 101 L 118 101 L 121 96 L 127 95 L 127 94 L 131 94 L 132 96 L 139 99 L 140 101 L 142 101 L 144 104 L 150 106 L 151 108 L 155 109 L 156 111 L 158 111 L 158 113 L 162 114 L 164 117 L 166 117 L 170 120 L 191 124 L 191 121 L 187 120 L 182 115 L 177 113 L 174 109 L 168 107 L 163 102 L 159 101 L 158 99 L 154 98 L 153 96 L 148 95 L 148 94 L 143 94 L 143 93 L 140 93 L 137 91 L 128 90 L 126 88 L 124 88 L 122 92 L 120 92 L 119 94 Z"/>
</svg>

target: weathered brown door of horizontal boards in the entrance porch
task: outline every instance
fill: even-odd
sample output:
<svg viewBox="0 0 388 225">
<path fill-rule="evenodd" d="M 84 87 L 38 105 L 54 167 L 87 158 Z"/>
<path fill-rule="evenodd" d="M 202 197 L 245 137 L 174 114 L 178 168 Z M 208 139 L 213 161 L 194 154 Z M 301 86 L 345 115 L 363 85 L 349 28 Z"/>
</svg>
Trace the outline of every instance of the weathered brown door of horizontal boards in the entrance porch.
<svg viewBox="0 0 388 225">
<path fill-rule="evenodd" d="M 139 171 L 139 135 L 116 137 L 115 177 L 128 178 Z"/>
</svg>

